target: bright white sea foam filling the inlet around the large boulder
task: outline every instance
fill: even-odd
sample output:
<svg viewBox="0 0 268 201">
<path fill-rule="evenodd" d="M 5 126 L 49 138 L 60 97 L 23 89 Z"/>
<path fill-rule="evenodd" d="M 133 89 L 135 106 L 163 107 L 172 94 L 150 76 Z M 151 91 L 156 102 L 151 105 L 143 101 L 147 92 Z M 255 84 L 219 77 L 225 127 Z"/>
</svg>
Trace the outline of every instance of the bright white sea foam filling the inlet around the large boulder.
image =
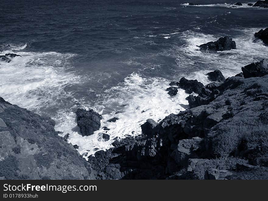
<svg viewBox="0 0 268 201">
<path fill-rule="evenodd" d="M 88 155 L 95 153 L 94 148 L 105 150 L 112 147 L 111 143 L 115 137 L 124 138 L 127 135 L 135 136 L 141 134 L 140 125 L 146 119 L 152 118 L 155 121 L 160 121 L 171 113 L 178 113 L 187 107 L 188 102 L 185 98 L 189 95 L 184 90 L 179 90 L 176 96 L 170 97 L 165 90 L 169 87 L 169 81 L 163 78 L 143 78 L 137 73 L 132 73 L 125 78 L 124 82 L 118 86 L 112 87 L 105 91 L 106 94 L 111 94 L 103 102 L 104 105 L 118 105 L 126 104 L 122 108 L 121 113 L 102 114 L 104 110 L 103 105 L 94 105 L 95 111 L 103 115 L 101 126 L 107 126 L 110 130 L 107 134 L 110 135 L 110 140 L 106 142 L 99 142 L 97 140 L 98 133 L 106 132 L 100 129 L 94 132 L 91 136 L 82 137 L 77 132 L 75 114 L 69 113 L 62 116 L 59 120 L 60 124 L 56 125 L 56 129 L 60 131 L 71 132 L 69 142 L 79 146 L 79 153 L 85 152 Z M 182 104 L 182 105 L 180 105 Z M 88 107 L 85 107 L 89 109 Z M 60 115 L 61 116 L 61 115 Z M 108 119 L 117 117 L 116 122 L 107 122 Z M 75 128 L 76 127 L 76 128 Z M 73 129 L 75 128 L 75 129 Z M 62 135 L 64 135 L 62 134 Z"/>
</svg>

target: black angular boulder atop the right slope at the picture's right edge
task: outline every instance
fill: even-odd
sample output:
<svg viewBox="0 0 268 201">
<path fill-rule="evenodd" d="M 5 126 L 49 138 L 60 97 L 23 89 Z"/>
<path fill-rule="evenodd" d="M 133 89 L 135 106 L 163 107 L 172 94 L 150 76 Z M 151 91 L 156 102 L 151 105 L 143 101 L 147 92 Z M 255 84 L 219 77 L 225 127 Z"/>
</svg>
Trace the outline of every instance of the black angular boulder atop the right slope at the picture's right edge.
<svg viewBox="0 0 268 201">
<path fill-rule="evenodd" d="M 267 61 L 263 59 L 260 62 L 246 65 L 242 67 L 242 72 L 245 78 L 265 76 L 268 74 Z"/>
</svg>

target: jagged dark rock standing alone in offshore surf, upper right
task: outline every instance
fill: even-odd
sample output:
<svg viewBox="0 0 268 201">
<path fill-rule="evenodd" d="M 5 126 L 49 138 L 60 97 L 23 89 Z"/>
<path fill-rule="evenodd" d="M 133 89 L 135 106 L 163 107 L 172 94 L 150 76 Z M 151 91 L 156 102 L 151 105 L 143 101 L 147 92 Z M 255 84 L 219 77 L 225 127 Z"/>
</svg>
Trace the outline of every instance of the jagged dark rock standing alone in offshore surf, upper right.
<svg viewBox="0 0 268 201">
<path fill-rule="evenodd" d="M 199 48 L 204 53 L 217 53 L 217 51 L 236 49 L 236 44 L 230 37 L 225 36 L 217 41 L 202 44 Z"/>
</svg>

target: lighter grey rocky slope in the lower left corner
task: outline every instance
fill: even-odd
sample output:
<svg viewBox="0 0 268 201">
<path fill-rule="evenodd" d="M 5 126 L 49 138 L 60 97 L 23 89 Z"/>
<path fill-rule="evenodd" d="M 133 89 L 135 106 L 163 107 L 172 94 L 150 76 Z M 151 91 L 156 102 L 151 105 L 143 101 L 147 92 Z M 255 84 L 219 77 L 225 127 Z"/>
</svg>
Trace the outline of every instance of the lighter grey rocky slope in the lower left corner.
<svg viewBox="0 0 268 201">
<path fill-rule="evenodd" d="M 93 178 L 90 164 L 58 136 L 54 125 L 0 98 L 0 178 Z"/>
</svg>

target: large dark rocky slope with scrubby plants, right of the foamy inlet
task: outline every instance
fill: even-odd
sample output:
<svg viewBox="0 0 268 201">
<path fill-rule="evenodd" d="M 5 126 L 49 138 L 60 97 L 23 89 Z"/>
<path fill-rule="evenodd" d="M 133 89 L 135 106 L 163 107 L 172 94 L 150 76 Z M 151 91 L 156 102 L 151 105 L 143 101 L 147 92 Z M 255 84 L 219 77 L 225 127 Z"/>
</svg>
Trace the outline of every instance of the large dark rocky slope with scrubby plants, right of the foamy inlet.
<svg viewBox="0 0 268 201">
<path fill-rule="evenodd" d="M 97 179 L 268 178 L 268 75 L 210 83 L 206 105 L 147 120 L 88 161 Z M 200 92 L 201 93 L 201 92 Z"/>
</svg>

